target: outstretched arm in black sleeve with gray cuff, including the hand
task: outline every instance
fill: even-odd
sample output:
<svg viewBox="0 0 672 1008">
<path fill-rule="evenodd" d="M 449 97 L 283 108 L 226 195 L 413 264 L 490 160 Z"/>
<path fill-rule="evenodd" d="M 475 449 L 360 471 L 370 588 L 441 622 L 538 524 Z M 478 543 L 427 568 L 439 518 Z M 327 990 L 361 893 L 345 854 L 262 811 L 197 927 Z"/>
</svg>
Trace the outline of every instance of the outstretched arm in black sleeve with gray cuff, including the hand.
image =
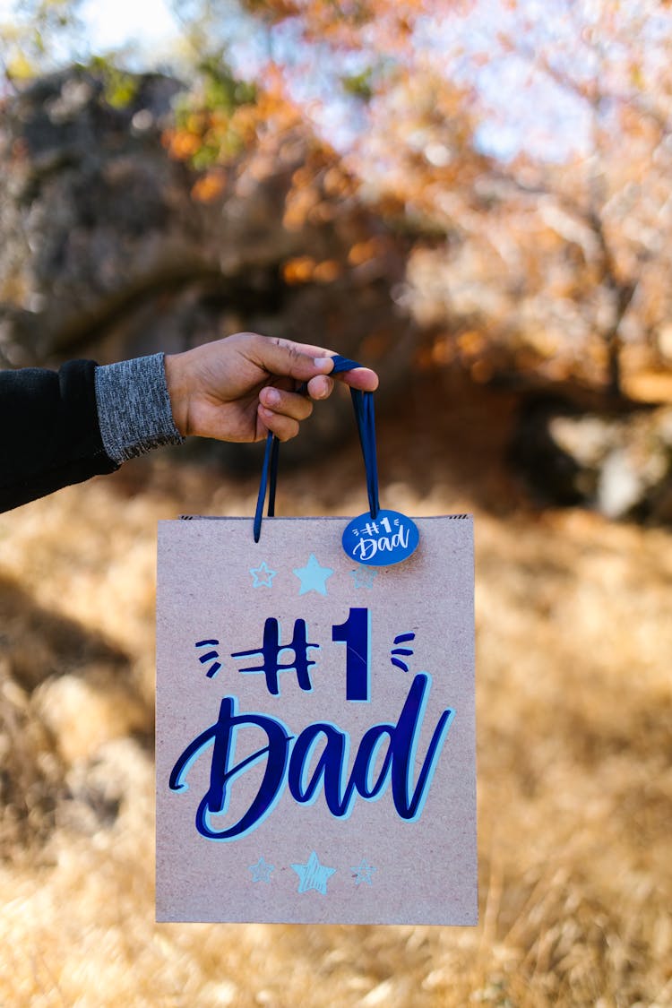
<svg viewBox="0 0 672 1008">
<path fill-rule="evenodd" d="M 272 430 L 286 440 L 326 398 L 330 352 L 239 333 L 183 354 L 97 367 L 75 361 L 56 374 L 0 372 L 0 510 L 70 483 L 111 473 L 187 434 L 252 442 Z M 373 390 L 374 372 L 339 376 Z M 307 382 L 308 396 L 294 391 Z"/>
</svg>

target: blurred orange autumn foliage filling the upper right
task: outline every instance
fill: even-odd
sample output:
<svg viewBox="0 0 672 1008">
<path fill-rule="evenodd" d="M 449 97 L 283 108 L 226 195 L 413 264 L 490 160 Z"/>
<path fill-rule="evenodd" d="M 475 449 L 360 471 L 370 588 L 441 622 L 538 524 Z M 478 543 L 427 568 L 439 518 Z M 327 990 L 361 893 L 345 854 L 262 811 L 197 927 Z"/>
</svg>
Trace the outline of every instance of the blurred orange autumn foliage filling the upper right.
<svg viewBox="0 0 672 1008">
<path fill-rule="evenodd" d="M 257 180 L 282 172 L 297 134 L 311 136 L 284 227 L 328 225 L 362 200 L 412 235 L 401 297 L 421 327 L 452 334 L 457 358 L 460 334 L 478 331 L 477 357 L 496 359 L 496 370 L 612 392 L 634 368 L 667 366 L 672 13 L 653 0 L 576 4 L 562 17 L 524 2 L 496 15 L 486 5 L 482 16 L 479 0 L 242 6 L 274 58 L 258 71 L 253 102 L 196 116 L 210 151 L 198 199 L 221 194 L 222 167 Z M 291 54 L 273 42 L 287 27 Z M 501 71 L 506 82 L 511 68 L 511 109 L 493 111 L 482 77 Z M 297 88 L 310 80 L 312 91 Z M 350 102 L 345 141 L 324 125 L 337 99 Z M 194 158 L 191 128 L 171 140 L 175 156 Z M 372 257 L 357 245 L 352 266 Z M 287 282 L 320 275 L 284 268 Z"/>
</svg>

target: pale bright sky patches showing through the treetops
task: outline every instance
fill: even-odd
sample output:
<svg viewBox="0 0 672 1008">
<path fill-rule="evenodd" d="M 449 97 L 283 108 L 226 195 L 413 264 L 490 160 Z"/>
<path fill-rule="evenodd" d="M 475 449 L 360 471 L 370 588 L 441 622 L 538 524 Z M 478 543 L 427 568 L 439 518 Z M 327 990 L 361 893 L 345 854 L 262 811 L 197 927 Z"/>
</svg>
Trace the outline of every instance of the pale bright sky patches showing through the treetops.
<svg viewBox="0 0 672 1008">
<path fill-rule="evenodd" d="M 624 0 L 624 8 L 637 7 L 641 2 Z M 516 7 L 503 4 L 502 0 L 479 0 L 471 15 L 427 19 L 430 35 L 426 38 L 419 35 L 427 58 L 436 62 L 439 72 L 445 71 L 445 54 L 457 42 L 464 74 L 477 85 L 485 104 L 492 110 L 477 134 L 477 143 L 484 152 L 506 160 L 525 147 L 544 160 L 561 161 L 569 150 L 582 152 L 588 148 L 591 122 L 585 102 L 572 99 L 548 80 L 531 90 L 528 87 L 530 59 L 504 51 L 500 33 L 516 38 L 520 30 L 517 19 L 522 11 L 528 25 L 527 37 L 521 41 L 532 49 L 537 43 L 550 46 L 560 70 L 562 59 L 571 53 L 572 69 L 576 71 L 576 59 L 580 69 L 584 55 L 572 47 L 575 28 L 572 29 L 570 14 L 580 8 L 580 16 L 589 23 L 591 16 L 596 17 L 601 3 L 602 0 L 525 0 Z M 11 20 L 12 10 L 20 11 L 21 7 L 22 0 L 0 0 L 0 21 Z M 165 69 L 174 65 L 180 29 L 171 0 L 84 0 L 80 15 L 85 22 L 85 38 L 91 52 L 123 49 L 124 62 L 129 69 Z M 240 15 L 227 18 L 225 23 L 234 71 L 243 77 L 254 76 L 255 64 L 260 58 L 254 47 L 255 32 L 250 31 L 249 26 L 246 30 Z M 669 30 L 669 19 L 663 27 Z M 274 39 L 281 61 L 291 67 L 293 59 L 300 56 L 300 45 L 292 35 L 292 25 L 276 30 Z M 478 57 L 484 53 L 488 58 L 479 64 Z M 309 99 L 311 93 L 319 93 L 329 84 L 331 79 L 321 73 L 320 66 L 317 58 L 314 74 L 301 70 L 302 77 L 294 75 L 295 97 Z M 586 66 L 585 70 L 588 76 L 589 72 L 594 73 L 591 67 Z M 459 62 L 451 64 L 451 73 L 458 81 Z M 324 95 L 320 97 L 323 99 Z M 326 125 L 330 136 L 333 134 L 331 138 L 337 140 L 343 132 L 347 144 L 350 134 L 343 121 L 344 103 L 326 101 L 320 114 L 321 125 Z M 352 110 L 348 114 L 352 114 Z M 357 128 L 355 121 L 351 125 Z"/>
</svg>

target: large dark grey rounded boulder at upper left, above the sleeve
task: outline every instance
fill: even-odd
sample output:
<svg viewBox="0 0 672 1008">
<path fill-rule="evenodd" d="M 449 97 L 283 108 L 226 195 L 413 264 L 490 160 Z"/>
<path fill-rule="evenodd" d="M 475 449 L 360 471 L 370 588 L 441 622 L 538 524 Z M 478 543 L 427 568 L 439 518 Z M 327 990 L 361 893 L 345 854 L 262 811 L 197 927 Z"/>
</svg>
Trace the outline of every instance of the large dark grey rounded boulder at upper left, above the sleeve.
<svg viewBox="0 0 672 1008">
<path fill-rule="evenodd" d="M 182 165 L 160 134 L 179 90 L 137 79 L 122 108 L 71 70 L 9 100 L 2 128 L 2 348 L 10 363 L 96 341 L 134 293 L 201 258 Z"/>
</svg>

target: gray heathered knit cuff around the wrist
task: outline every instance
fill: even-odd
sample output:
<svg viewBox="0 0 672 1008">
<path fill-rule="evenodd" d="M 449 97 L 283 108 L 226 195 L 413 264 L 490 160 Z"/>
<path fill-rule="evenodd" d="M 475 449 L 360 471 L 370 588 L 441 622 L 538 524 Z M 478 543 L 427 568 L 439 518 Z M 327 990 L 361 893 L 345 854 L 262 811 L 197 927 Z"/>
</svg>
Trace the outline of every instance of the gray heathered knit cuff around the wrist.
<svg viewBox="0 0 672 1008">
<path fill-rule="evenodd" d="M 163 354 L 96 368 L 96 402 L 103 447 L 115 462 L 184 440 L 172 418 Z"/>
</svg>

